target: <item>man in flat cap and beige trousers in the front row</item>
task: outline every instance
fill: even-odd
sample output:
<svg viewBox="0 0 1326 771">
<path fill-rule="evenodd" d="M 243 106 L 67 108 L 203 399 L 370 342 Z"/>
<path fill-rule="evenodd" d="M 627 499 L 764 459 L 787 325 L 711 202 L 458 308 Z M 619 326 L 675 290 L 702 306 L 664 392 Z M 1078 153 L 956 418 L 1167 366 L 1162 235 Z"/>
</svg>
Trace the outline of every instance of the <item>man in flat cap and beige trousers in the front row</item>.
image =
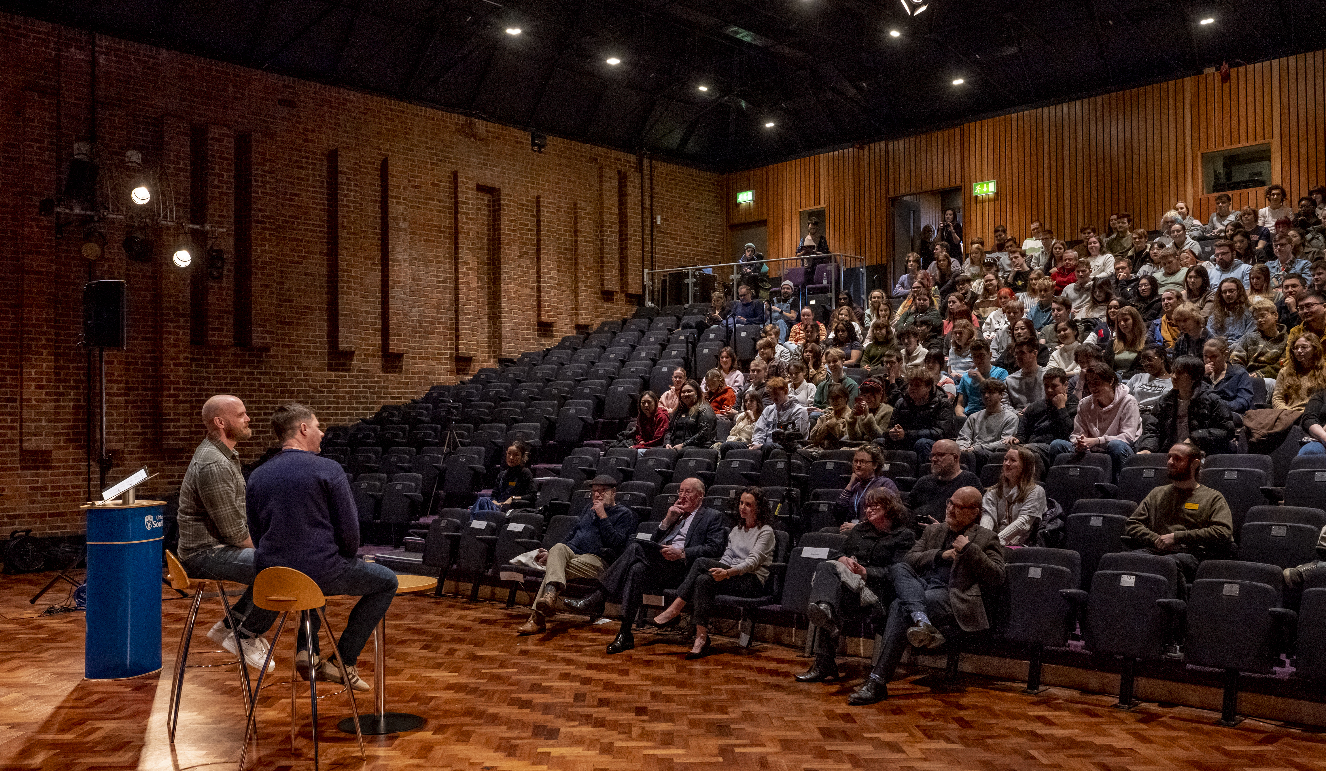
<svg viewBox="0 0 1326 771">
<path fill-rule="evenodd" d="M 546 618 L 556 613 L 557 595 L 566 588 L 566 576 L 597 579 L 607 569 L 599 552 L 621 552 L 631 537 L 635 514 L 617 503 L 617 479 L 599 474 L 589 484 L 590 503 L 581 512 L 579 522 L 562 543 L 553 544 L 550 549 L 538 549 L 534 557 L 534 561 L 546 567 L 546 572 L 534 595 L 529 621 L 516 630 L 518 634 L 544 632 Z"/>
</svg>

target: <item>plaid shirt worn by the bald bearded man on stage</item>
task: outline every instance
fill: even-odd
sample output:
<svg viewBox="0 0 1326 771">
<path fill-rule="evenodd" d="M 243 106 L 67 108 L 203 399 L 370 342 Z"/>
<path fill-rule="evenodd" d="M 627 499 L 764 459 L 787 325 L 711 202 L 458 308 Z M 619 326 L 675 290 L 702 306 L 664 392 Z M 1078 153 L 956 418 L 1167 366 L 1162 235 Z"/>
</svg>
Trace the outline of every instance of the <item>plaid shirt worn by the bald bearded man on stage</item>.
<svg viewBox="0 0 1326 771">
<path fill-rule="evenodd" d="M 240 454 L 207 438 L 179 486 L 179 559 L 248 539 Z"/>
</svg>

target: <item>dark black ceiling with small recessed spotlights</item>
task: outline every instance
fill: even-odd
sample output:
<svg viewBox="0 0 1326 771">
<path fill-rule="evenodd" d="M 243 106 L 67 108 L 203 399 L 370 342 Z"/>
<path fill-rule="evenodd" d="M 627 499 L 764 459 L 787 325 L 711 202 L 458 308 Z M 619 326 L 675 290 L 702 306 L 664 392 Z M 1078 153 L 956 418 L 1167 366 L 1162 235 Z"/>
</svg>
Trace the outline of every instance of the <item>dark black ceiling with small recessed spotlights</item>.
<svg viewBox="0 0 1326 771">
<path fill-rule="evenodd" d="M 1326 41 L 1326 0 L 931 0 L 915 17 L 899 0 L 5 0 L 0 8 L 719 171 Z"/>
</svg>

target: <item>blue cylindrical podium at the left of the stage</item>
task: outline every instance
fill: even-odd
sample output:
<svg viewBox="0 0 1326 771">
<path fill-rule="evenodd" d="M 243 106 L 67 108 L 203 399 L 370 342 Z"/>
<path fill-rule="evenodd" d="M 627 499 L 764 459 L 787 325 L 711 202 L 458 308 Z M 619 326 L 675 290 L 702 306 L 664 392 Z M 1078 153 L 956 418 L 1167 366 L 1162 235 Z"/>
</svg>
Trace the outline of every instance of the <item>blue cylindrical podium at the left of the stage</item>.
<svg viewBox="0 0 1326 771">
<path fill-rule="evenodd" d="M 166 502 L 82 510 L 88 512 L 84 677 L 122 679 L 160 671 Z"/>
</svg>

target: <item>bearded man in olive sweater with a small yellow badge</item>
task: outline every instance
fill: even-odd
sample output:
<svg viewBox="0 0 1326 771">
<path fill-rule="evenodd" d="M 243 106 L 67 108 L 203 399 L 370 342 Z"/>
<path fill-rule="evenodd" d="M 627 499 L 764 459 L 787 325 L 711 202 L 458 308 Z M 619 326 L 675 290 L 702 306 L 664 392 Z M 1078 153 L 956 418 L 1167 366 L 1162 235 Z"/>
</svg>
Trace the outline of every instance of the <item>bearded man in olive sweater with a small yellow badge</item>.
<svg viewBox="0 0 1326 771">
<path fill-rule="evenodd" d="M 1128 518 L 1124 529 L 1138 551 L 1170 557 L 1191 583 L 1197 564 L 1228 556 L 1233 545 L 1233 514 L 1217 490 L 1197 483 L 1205 453 L 1177 442 L 1170 447 L 1170 484 L 1154 488 Z"/>
</svg>

